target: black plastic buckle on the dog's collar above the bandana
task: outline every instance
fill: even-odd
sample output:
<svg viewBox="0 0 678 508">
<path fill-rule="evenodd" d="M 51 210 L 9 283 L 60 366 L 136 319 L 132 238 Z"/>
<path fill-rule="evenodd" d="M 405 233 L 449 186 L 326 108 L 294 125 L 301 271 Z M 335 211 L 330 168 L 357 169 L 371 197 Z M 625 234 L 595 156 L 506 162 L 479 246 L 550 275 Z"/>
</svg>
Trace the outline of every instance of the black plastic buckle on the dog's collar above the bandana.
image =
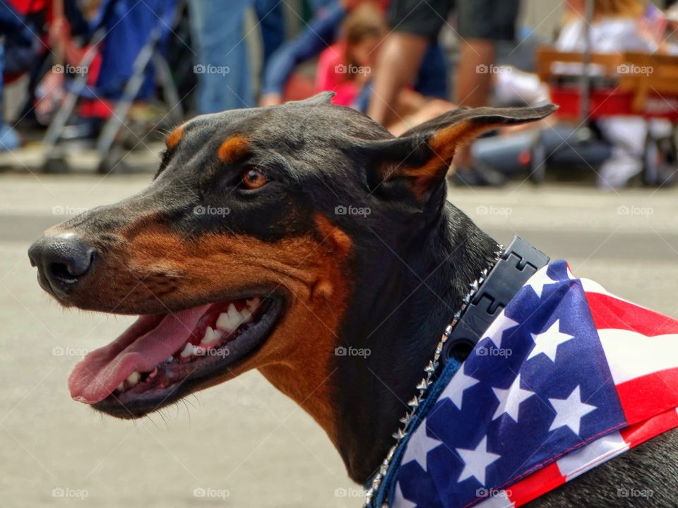
<svg viewBox="0 0 678 508">
<path fill-rule="evenodd" d="M 464 309 L 445 343 L 441 363 L 445 365 L 451 357 L 463 362 L 511 298 L 548 262 L 549 257 L 541 250 L 519 236 L 513 237 Z"/>
</svg>

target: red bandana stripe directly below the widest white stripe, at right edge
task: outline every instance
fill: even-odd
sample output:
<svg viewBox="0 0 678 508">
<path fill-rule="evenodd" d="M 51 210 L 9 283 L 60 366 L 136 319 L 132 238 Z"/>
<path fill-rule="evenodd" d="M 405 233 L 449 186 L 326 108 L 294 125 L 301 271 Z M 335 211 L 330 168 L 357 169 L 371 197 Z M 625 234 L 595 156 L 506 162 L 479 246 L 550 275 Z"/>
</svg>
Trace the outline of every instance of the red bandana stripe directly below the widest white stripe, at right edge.
<svg viewBox="0 0 678 508">
<path fill-rule="evenodd" d="M 678 406 L 678 368 L 636 377 L 617 385 L 617 394 L 629 424 Z"/>
</svg>

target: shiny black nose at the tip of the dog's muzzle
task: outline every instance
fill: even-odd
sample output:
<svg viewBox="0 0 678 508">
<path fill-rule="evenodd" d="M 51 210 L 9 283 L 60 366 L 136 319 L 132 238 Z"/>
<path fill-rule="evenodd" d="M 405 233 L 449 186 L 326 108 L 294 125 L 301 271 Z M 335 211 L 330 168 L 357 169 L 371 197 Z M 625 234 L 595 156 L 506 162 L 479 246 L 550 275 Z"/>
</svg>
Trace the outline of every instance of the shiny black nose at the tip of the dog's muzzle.
<svg viewBox="0 0 678 508">
<path fill-rule="evenodd" d="M 96 250 L 73 233 L 45 235 L 28 249 L 40 285 L 57 296 L 68 296 L 92 266 Z"/>
</svg>

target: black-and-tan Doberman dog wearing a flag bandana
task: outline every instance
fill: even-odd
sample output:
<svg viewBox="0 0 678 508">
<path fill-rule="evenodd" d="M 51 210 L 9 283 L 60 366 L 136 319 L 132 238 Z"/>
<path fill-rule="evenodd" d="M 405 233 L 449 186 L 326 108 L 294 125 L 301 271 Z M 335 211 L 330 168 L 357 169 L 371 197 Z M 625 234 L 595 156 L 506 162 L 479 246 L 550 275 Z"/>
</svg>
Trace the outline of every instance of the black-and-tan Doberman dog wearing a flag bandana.
<svg viewBox="0 0 678 508">
<path fill-rule="evenodd" d="M 450 309 L 498 248 L 446 199 L 456 147 L 552 111 L 457 109 L 394 138 L 321 94 L 187 121 L 145 191 L 29 250 L 63 306 L 141 315 L 73 370 L 73 399 L 140 418 L 256 368 L 364 482 Z M 644 485 L 670 506 L 677 452 L 665 433 L 535 504 L 637 506 L 617 488 Z"/>
</svg>

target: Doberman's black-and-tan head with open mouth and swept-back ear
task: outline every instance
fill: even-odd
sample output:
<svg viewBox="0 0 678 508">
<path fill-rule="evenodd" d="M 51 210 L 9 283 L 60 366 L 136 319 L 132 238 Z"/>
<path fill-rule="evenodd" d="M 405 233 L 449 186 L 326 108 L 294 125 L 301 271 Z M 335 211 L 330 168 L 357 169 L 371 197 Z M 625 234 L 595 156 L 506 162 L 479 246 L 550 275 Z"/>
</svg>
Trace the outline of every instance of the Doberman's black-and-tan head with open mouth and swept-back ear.
<svg viewBox="0 0 678 508">
<path fill-rule="evenodd" d="M 393 138 L 330 98 L 198 116 L 168 136 L 145 191 L 33 244 L 59 303 L 141 315 L 73 370 L 74 399 L 133 418 L 259 368 L 331 418 L 333 352 L 370 291 L 357 265 L 441 213 L 460 143 L 553 110 L 458 109 Z"/>
</svg>

